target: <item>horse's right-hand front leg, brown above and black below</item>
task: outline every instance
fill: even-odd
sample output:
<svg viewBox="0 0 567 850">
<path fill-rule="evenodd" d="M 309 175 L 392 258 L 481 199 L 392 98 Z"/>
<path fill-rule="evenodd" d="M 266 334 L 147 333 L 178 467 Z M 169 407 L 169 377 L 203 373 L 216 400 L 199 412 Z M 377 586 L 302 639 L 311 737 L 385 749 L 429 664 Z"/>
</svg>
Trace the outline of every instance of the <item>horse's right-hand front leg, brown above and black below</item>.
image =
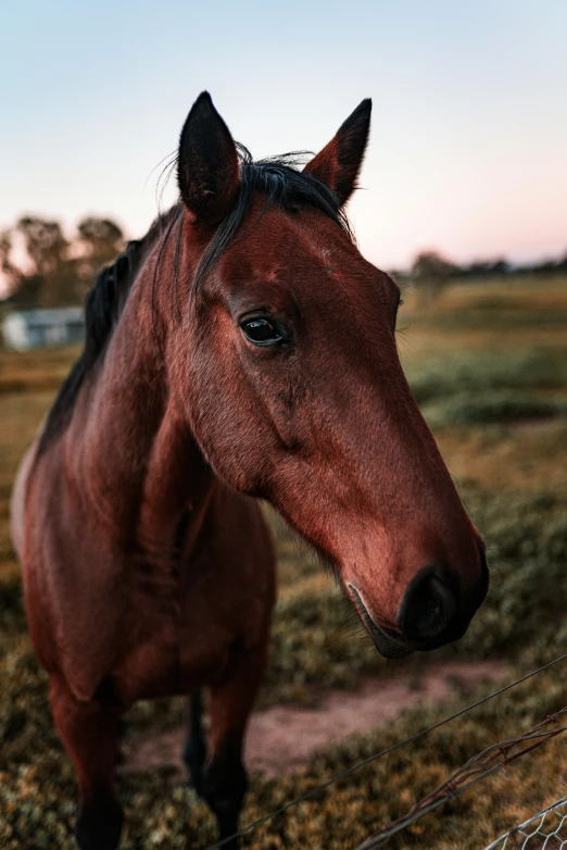
<svg viewBox="0 0 567 850">
<path fill-rule="evenodd" d="M 267 638 L 265 646 L 254 651 L 242 650 L 227 677 L 211 689 L 211 734 L 202 797 L 216 816 L 220 839 L 238 830 L 248 787 L 248 775 L 242 764 L 244 734 L 266 664 Z M 224 847 L 236 850 L 239 841 L 235 839 Z"/>
</svg>

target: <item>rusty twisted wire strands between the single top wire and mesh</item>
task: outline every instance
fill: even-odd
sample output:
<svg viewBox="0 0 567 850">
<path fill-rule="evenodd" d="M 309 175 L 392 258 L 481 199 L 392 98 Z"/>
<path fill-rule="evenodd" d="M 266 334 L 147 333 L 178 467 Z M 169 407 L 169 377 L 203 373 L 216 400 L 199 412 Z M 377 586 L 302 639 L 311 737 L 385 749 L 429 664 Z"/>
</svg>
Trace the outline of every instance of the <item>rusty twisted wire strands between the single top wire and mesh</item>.
<svg viewBox="0 0 567 850">
<path fill-rule="evenodd" d="M 558 726 L 555 729 L 546 728 L 552 724 L 557 723 L 559 717 L 566 713 L 567 707 L 554 714 L 550 714 L 544 721 L 538 723 L 524 735 L 518 735 L 515 738 L 508 738 L 507 740 L 499 741 L 497 743 L 492 743 L 490 747 L 487 747 L 482 752 L 474 755 L 462 767 L 451 774 L 451 776 L 433 791 L 419 800 L 404 817 L 400 817 L 398 821 L 393 821 L 382 827 L 382 829 L 375 833 L 374 836 L 370 836 L 370 838 L 367 838 L 362 845 L 358 845 L 355 850 L 371 850 L 371 848 L 383 845 L 393 835 L 405 829 L 429 812 L 432 812 L 433 809 L 458 797 L 470 788 L 471 785 L 493 775 L 505 765 L 512 764 L 516 759 L 541 747 L 551 738 L 555 738 L 557 735 L 567 732 L 567 726 Z M 528 743 L 528 746 L 521 747 L 522 743 Z"/>
</svg>

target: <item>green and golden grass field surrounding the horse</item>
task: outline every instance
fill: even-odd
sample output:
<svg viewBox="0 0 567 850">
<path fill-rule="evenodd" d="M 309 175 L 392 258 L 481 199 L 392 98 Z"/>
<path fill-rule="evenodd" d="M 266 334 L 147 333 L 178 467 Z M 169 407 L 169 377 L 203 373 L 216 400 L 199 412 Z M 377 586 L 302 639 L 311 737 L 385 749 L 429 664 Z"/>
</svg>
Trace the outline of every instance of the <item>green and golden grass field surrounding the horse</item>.
<svg viewBox="0 0 567 850">
<path fill-rule="evenodd" d="M 405 302 L 399 323 L 404 368 L 487 539 L 492 571 L 489 597 L 467 636 L 431 654 L 505 659 L 514 672 L 527 672 L 567 648 L 567 279 L 462 285 L 427 315 L 417 312 L 411 291 Z M 74 780 L 26 635 L 8 502 L 17 460 L 75 355 L 0 353 L 0 847 L 7 850 L 74 846 Z M 261 704 L 313 703 L 326 688 L 355 688 L 362 674 L 414 675 L 426 658 L 380 659 L 331 579 L 270 518 L 280 588 Z M 244 846 L 354 847 L 479 749 L 567 704 L 566 686 L 567 663 L 363 768 L 252 833 Z M 254 777 L 242 823 L 475 696 L 455 687 L 454 705 L 407 712 L 278 779 Z M 128 717 L 129 734 L 176 724 L 182 712 L 179 700 L 141 703 Z M 566 767 L 567 738 L 559 737 L 389 846 L 481 848 L 565 795 Z M 205 807 L 167 778 L 159 771 L 123 779 L 124 848 L 197 849 L 213 841 Z"/>
</svg>

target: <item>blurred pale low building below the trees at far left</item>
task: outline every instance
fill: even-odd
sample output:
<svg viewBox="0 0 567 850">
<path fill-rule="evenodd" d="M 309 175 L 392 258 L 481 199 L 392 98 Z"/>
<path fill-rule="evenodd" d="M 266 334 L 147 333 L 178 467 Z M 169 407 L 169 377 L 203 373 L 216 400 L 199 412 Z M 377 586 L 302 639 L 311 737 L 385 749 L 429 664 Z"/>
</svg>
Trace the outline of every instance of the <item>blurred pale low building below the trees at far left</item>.
<svg viewBox="0 0 567 850">
<path fill-rule="evenodd" d="M 5 348 L 16 351 L 81 342 L 85 337 L 84 310 L 81 307 L 15 310 L 2 320 L 2 337 Z"/>
</svg>

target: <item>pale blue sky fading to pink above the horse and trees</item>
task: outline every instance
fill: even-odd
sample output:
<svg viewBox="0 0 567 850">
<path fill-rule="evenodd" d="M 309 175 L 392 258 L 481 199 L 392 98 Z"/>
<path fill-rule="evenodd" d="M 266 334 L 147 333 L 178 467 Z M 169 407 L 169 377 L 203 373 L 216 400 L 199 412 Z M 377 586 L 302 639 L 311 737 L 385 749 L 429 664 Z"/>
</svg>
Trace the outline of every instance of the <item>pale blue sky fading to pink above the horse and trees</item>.
<svg viewBox="0 0 567 850">
<path fill-rule="evenodd" d="M 1 5 L 0 228 L 92 213 L 143 235 L 207 89 L 255 158 L 319 150 L 373 98 L 349 210 L 382 268 L 567 253 L 567 0 Z"/>
</svg>

